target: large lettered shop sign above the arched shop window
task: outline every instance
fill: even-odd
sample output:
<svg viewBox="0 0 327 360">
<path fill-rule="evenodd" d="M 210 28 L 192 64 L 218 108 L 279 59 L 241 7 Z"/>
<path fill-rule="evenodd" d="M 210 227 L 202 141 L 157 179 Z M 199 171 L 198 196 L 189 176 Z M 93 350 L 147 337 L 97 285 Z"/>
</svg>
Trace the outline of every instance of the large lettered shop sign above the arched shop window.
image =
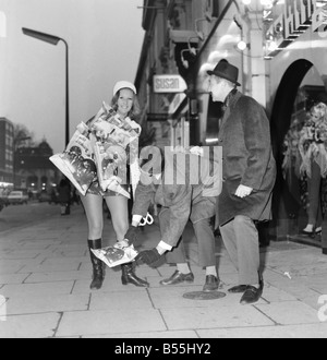
<svg viewBox="0 0 327 360">
<path fill-rule="evenodd" d="M 274 57 L 310 27 L 326 32 L 325 7 L 317 7 L 316 0 L 286 0 L 283 12 L 266 32 L 267 56 Z"/>
</svg>

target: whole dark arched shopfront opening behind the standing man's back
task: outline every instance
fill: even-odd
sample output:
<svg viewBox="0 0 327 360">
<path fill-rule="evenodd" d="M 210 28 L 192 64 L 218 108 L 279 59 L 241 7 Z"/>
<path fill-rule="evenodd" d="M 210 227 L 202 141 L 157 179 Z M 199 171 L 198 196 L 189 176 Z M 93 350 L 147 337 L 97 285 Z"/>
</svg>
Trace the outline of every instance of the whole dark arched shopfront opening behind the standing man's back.
<svg viewBox="0 0 327 360">
<path fill-rule="evenodd" d="M 320 152 L 319 160 L 315 164 L 323 164 L 324 167 L 326 158 L 327 166 L 324 140 L 310 135 L 315 131 L 315 127 L 310 124 L 313 124 L 312 109 L 316 105 L 327 108 L 327 92 L 322 75 L 313 62 L 296 60 L 279 84 L 271 112 L 271 137 L 278 168 L 274 191 L 274 226 L 277 240 L 288 238 L 319 247 L 318 230 L 326 207 L 323 196 L 326 180 L 318 176 L 315 177 L 318 182 L 312 183 L 312 167 L 307 167 L 307 161 L 313 159 L 314 148 Z M 308 132 L 304 133 L 304 130 Z M 311 189 L 317 190 L 315 196 Z M 313 223 L 310 207 L 315 209 L 315 224 L 312 230 L 303 233 L 303 230 L 311 228 L 307 227 L 308 223 Z"/>
</svg>

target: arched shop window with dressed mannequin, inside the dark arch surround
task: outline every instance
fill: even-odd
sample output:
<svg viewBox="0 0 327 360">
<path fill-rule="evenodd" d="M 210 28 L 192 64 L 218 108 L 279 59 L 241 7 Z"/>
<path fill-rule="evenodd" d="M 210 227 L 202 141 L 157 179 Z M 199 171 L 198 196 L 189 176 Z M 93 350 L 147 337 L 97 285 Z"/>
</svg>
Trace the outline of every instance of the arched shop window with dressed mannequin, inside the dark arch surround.
<svg viewBox="0 0 327 360">
<path fill-rule="evenodd" d="M 298 233 L 315 235 L 327 211 L 327 93 L 314 67 L 298 89 L 281 147 L 288 215 L 296 218 Z"/>
</svg>

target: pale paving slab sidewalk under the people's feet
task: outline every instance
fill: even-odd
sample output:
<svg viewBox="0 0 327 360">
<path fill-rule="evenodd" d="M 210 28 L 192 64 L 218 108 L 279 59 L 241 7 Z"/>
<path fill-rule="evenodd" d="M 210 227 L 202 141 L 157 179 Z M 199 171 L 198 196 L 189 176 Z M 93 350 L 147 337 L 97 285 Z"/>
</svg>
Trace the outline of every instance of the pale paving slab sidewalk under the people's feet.
<svg viewBox="0 0 327 360">
<path fill-rule="evenodd" d="M 105 218 L 104 244 L 114 242 Z M 1 338 L 326 338 L 327 256 L 317 248 L 271 242 L 262 250 L 265 266 L 263 298 L 241 305 L 227 289 L 238 281 L 217 238 L 217 264 L 226 297 L 191 300 L 201 291 L 205 272 L 197 265 L 192 226 L 185 230 L 194 284 L 162 287 L 174 267 L 137 267 L 150 287 L 121 284 L 120 268 L 108 268 L 100 290 L 89 290 L 90 263 L 83 208 L 69 216 L 0 232 Z M 140 249 L 159 241 L 157 221 L 141 235 Z"/>
</svg>

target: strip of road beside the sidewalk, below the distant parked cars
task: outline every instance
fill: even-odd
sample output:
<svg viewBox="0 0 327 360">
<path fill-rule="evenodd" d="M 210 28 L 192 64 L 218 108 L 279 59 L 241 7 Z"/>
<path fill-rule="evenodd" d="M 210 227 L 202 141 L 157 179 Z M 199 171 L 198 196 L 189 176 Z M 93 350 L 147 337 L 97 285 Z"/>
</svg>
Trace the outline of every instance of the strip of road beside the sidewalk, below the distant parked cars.
<svg viewBox="0 0 327 360">
<path fill-rule="evenodd" d="M 33 225 L 59 214 L 60 205 L 55 204 L 29 202 L 27 205 L 9 205 L 0 212 L 0 236 L 2 231 Z"/>
</svg>

